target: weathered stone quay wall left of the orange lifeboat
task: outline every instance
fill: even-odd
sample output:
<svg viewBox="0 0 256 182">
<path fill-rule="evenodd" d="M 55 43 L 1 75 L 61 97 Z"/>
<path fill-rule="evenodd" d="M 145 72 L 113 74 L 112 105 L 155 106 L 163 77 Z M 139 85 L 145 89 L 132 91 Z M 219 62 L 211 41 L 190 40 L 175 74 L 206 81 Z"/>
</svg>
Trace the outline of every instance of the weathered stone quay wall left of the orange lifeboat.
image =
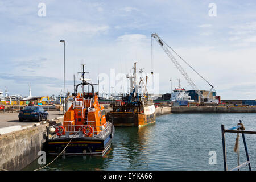
<svg viewBox="0 0 256 182">
<path fill-rule="evenodd" d="M 20 170 L 38 158 L 48 124 L 0 135 L 0 168 Z"/>
</svg>

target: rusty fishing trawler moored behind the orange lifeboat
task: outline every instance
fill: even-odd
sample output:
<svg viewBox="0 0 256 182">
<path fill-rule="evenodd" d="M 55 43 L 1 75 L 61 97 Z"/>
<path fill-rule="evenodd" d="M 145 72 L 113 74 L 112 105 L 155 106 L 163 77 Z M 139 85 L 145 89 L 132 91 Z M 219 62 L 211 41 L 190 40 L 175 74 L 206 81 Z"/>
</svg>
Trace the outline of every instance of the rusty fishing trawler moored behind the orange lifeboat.
<svg viewBox="0 0 256 182">
<path fill-rule="evenodd" d="M 142 78 L 137 84 L 136 64 L 133 75 L 127 75 L 130 79 L 130 93 L 111 104 L 113 110 L 107 114 L 108 121 L 114 126 L 142 127 L 155 123 L 155 105 L 146 89 L 147 77 L 146 84 Z M 144 92 L 139 93 L 139 88 Z"/>
</svg>

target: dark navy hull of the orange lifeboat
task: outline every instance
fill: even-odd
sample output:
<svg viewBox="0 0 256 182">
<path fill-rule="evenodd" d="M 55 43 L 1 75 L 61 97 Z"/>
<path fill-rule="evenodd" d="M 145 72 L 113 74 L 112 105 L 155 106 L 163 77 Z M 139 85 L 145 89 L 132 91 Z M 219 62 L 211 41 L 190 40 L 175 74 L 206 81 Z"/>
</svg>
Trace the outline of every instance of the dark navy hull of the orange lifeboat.
<svg viewBox="0 0 256 182">
<path fill-rule="evenodd" d="M 48 139 L 45 148 L 49 155 L 59 155 L 67 145 L 63 155 L 104 155 L 113 140 L 113 135 L 113 133 L 109 134 L 104 139 L 90 137 L 72 138 L 72 140 L 66 137 Z"/>
</svg>

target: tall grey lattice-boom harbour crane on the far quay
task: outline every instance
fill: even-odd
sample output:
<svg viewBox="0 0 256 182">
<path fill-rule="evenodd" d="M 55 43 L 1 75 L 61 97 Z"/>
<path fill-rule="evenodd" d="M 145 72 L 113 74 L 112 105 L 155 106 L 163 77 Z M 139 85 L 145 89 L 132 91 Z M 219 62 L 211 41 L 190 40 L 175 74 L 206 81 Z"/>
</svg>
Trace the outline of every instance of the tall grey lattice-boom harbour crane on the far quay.
<svg viewBox="0 0 256 182">
<path fill-rule="evenodd" d="M 212 92 L 212 90 L 214 90 L 216 92 L 216 90 L 214 89 L 214 86 L 212 84 L 210 84 L 207 80 L 205 80 L 205 78 L 203 76 L 201 76 L 195 69 L 193 69 L 191 67 L 191 65 L 189 65 L 187 63 L 187 61 L 185 61 L 180 55 L 178 55 L 174 49 L 172 49 L 170 46 L 168 46 L 168 44 L 166 42 L 164 42 L 163 39 L 161 39 L 158 34 L 151 34 L 151 38 L 155 38 L 155 40 L 159 43 L 159 45 L 163 48 L 164 52 L 166 52 L 167 56 L 170 58 L 170 60 L 172 61 L 172 63 L 174 63 L 175 67 L 180 71 L 181 75 L 183 75 L 183 77 L 185 78 L 185 80 L 188 81 L 188 84 L 196 91 L 196 93 L 198 94 L 198 96 L 200 96 L 201 101 L 203 102 L 217 102 L 217 100 L 209 100 L 209 95 L 210 92 Z M 203 94 L 200 92 L 200 90 L 197 88 L 196 84 L 192 81 L 192 79 L 188 76 L 187 72 L 184 71 L 184 69 L 181 67 L 181 65 L 179 64 L 179 62 L 175 59 L 174 55 L 172 55 L 171 51 L 173 51 L 178 57 L 180 57 L 181 60 L 184 61 L 184 63 L 186 63 L 193 71 L 195 71 L 197 73 L 197 75 L 199 75 L 201 78 L 203 78 L 204 81 L 206 81 L 210 86 L 211 89 L 206 97 L 203 96 Z"/>
</svg>

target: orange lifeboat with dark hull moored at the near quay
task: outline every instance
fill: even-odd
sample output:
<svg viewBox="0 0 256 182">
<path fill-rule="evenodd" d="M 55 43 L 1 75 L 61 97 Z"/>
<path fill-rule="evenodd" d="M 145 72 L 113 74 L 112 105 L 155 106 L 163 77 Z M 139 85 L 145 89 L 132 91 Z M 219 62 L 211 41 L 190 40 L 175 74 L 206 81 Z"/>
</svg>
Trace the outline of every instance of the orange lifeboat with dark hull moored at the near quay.
<svg viewBox="0 0 256 182">
<path fill-rule="evenodd" d="M 114 125 L 106 121 L 104 106 L 98 102 L 98 93 L 94 93 L 93 84 L 84 78 L 84 64 L 81 73 L 82 82 L 72 93 L 74 101 L 64 114 L 63 124 L 48 128 L 48 154 L 104 155 L 113 140 Z M 80 86 L 82 92 L 77 92 Z"/>
</svg>

